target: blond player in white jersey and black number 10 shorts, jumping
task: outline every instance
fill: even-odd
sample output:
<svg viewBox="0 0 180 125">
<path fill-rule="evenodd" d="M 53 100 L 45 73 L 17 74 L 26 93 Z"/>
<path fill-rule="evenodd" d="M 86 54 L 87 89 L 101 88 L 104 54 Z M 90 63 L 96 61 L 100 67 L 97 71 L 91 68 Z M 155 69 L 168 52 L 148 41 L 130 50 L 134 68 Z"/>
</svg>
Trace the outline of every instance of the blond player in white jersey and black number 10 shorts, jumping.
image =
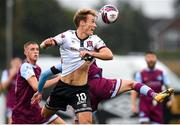
<svg viewBox="0 0 180 125">
<path fill-rule="evenodd" d="M 59 46 L 62 63 L 61 81 L 53 89 L 42 115 L 49 117 L 71 105 L 80 124 L 92 123 L 87 77 L 93 58 L 112 60 L 113 54 L 103 40 L 94 34 L 96 11 L 80 9 L 74 15 L 76 30 L 65 31 L 41 43 L 41 47 Z M 41 93 L 37 94 L 42 96 Z"/>
</svg>

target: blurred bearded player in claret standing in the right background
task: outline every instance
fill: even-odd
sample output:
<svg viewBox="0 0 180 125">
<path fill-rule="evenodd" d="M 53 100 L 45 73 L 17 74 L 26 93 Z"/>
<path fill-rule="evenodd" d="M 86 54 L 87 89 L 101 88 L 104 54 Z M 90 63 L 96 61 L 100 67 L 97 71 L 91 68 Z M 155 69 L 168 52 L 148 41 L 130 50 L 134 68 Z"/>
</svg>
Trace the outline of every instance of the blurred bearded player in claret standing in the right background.
<svg viewBox="0 0 180 125">
<path fill-rule="evenodd" d="M 146 56 L 147 68 L 142 69 L 140 72 L 135 74 L 135 80 L 138 82 L 143 82 L 144 85 L 151 87 L 155 92 L 162 92 L 163 86 L 169 88 L 170 80 L 167 75 L 156 66 L 157 57 L 152 51 L 147 52 Z M 156 100 L 160 102 L 163 98 L 170 96 L 173 93 L 173 89 L 169 88 L 166 91 L 155 96 Z M 152 98 L 144 95 L 139 96 L 139 121 L 143 124 L 158 123 L 163 124 L 163 104 L 156 103 Z M 132 110 L 137 112 L 136 107 L 137 93 L 132 92 Z"/>
</svg>

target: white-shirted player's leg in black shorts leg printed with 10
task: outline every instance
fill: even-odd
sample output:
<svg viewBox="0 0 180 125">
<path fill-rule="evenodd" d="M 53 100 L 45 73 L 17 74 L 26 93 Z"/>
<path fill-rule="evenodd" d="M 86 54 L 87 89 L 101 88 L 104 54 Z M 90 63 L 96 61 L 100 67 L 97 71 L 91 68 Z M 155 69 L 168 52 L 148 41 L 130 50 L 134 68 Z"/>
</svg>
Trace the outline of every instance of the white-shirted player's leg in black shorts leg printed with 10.
<svg viewBox="0 0 180 125">
<path fill-rule="evenodd" d="M 79 124 L 92 124 L 92 108 L 88 94 L 88 85 L 71 86 L 69 88 L 68 104 L 70 104 L 76 114 Z"/>
</svg>

